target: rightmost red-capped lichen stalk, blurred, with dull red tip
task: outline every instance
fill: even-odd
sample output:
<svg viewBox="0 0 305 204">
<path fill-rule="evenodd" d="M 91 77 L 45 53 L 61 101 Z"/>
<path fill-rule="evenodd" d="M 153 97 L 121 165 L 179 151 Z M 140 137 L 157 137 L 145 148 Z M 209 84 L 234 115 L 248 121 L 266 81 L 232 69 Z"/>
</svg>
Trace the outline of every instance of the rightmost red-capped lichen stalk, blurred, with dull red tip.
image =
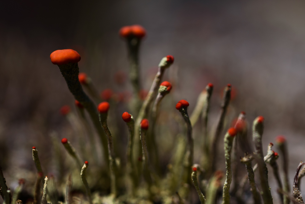
<svg viewBox="0 0 305 204">
<path fill-rule="evenodd" d="M 284 191 L 287 193 L 290 193 L 290 185 L 289 185 L 289 177 L 288 177 L 288 166 L 289 166 L 289 161 L 288 161 L 288 151 L 287 151 L 287 142 L 286 138 L 282 135 L 276 137 L 275 139 L 276 144 L 281 152 L 282 155 L 282 169 L 284 171 Z M 284 204 L 289 204 L 290 200 L 289 198 L 284 195 Z"/>
</svg>

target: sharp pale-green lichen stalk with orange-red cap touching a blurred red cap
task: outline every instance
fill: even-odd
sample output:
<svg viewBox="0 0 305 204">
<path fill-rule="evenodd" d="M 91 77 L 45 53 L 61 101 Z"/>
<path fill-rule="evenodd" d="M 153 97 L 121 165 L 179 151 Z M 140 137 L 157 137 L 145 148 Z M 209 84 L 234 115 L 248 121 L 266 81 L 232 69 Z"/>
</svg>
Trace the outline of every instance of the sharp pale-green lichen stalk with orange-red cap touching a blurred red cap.
<svg viewBox="0 0 305 204">
<path fill-rule="evenodd" d="M 231 151 L 233 139 L 237 131 L 235 128 L 228 129 L 224 136 L 224 157 L 226 160 L 226 180 L 224 182 L 224 188 L 222 192 L 222 204 L 230 203 L 230 185 L 232 182 L 232 169 L 231 169 Z"/>
</svg>

